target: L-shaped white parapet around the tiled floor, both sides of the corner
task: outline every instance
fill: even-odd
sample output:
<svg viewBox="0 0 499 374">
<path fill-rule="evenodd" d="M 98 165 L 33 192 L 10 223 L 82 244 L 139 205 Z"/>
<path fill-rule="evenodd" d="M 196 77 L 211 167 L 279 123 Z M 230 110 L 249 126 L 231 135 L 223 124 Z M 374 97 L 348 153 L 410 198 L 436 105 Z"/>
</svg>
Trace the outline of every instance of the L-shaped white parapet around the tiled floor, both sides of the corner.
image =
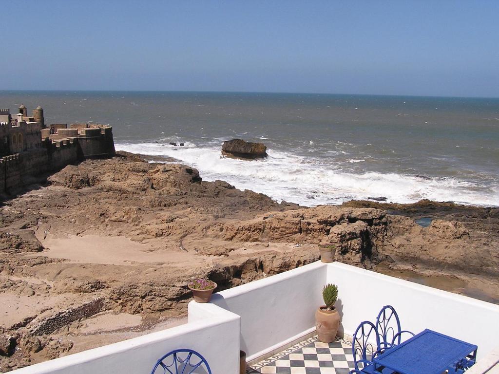
<svg viewBox="0 0 499 374">
<path fill-rule="evenodd" d="M 479 362 L 494 362 L 498 305 L 338 262 L 315 262 L 225 290 L 212 303 L 241 316 L 241 349 L 252 361 L 314 331 L 326 283 L 339 288 L 340 333 L 353 335 L 360 322 L 375 323 L 380 309 L 392 305 L 404 330 L 428 328 L 476 344 Z M 202 315 L 202 308 L 191 302 L 189 321 Z"/>
</svg>

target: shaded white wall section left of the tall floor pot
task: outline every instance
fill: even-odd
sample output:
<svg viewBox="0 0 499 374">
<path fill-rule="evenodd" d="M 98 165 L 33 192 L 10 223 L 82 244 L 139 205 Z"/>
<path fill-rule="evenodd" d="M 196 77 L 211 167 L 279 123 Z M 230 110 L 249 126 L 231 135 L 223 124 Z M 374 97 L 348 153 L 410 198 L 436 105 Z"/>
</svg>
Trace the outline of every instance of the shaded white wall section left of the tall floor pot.
<svg viewBox="0 0 499 374">
<path fill-rule="evenodd" d="M 241 349 L 251 361 L 315 329 L 327 265 L 320 261 L 219 292 L 212 303 L 241 316 Z M 201 304 L 189 304 L 189 321 Z"/>
</svg>

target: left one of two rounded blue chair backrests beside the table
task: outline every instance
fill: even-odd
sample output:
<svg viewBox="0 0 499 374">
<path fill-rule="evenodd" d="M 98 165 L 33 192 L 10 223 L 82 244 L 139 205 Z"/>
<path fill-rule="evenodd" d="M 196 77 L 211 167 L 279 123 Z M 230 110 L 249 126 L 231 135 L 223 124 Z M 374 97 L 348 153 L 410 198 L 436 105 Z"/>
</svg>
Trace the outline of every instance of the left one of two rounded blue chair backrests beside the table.
<svg viewBox="0 0 499 374">
<path fill-rule="evenodd" d="M 372 355 L 380 345 L 378 331 L 372 322 L 361 322 L 352 339 L 352 354 L 355 370 L 361 371 L 372 363 Z M 362 367 L 359 367 L 362 364 Z"/>
</svg>

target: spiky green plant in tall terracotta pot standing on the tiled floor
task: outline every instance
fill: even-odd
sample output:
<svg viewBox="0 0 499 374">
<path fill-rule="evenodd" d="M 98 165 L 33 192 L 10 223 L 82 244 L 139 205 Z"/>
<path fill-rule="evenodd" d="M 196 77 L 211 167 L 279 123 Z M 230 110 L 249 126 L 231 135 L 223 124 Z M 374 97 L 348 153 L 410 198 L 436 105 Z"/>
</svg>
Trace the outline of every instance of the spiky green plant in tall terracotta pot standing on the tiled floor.
<svg viewBox="0 0 499 374">
<path fill-rule="evenodd" d="M 340 315 L 334 307 L 338 298 L 338 287 L 334 284 L 326 284 L 322 289 L 322 305 L 315 312 L 315 329 L 319 340 L 323 343 L 331 343 L 336 338 L 340 326 Z"/>
</svg>

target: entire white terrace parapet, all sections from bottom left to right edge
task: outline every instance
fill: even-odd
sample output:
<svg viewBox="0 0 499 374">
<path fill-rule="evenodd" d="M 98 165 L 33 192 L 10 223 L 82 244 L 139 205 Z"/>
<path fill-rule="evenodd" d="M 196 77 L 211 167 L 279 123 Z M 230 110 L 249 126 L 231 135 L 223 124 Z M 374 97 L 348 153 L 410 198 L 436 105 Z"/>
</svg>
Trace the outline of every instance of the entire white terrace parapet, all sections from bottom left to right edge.
<svg viewBox="0 0 499 374">
<path fill-rule="evenodd" d="M 315 262 L 189 303 L 189 323 L 139 338 L 13 371 L 13 374 L 150 373 L 164 354 L 179 348 L 201 353 L 213 374 L 239 373 L 247 361 L 272 354 L 315 329 L 322 287 L 339 288 L 340 331 L 352 335 L 374 322 L 384 305 L 398 312 L 404 330 L 428 328 L 478 348 L 473 373 L 494 373 L 499 360 L 499 306 L 341 263 Z M 470 373 L 472 373 L 470 371 Z"/>
</svg>

